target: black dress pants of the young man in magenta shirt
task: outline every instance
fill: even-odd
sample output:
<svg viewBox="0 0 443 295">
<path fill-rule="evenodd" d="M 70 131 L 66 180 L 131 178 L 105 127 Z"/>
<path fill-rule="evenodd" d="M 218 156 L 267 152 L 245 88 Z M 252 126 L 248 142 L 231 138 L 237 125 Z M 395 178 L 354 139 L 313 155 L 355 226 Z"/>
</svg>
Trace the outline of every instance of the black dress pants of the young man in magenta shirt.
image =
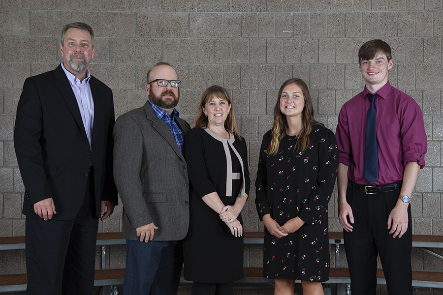
<svg viewBox="0 0 443 295">
<path fill-rule="evenodd" d="M 408 230 L 399 238 L 389 235 L 387 220 L 397 204 L 400 189 L 365 194 L 348 188 L 346 199 L 352 208 L 352 232 L 344 231 L 345 250 L 351 279 L 351 294 L 376 295 L 377 253 L 389 295 L 412 295 L 412 224 L 408 207 Z"/>
</svg>

